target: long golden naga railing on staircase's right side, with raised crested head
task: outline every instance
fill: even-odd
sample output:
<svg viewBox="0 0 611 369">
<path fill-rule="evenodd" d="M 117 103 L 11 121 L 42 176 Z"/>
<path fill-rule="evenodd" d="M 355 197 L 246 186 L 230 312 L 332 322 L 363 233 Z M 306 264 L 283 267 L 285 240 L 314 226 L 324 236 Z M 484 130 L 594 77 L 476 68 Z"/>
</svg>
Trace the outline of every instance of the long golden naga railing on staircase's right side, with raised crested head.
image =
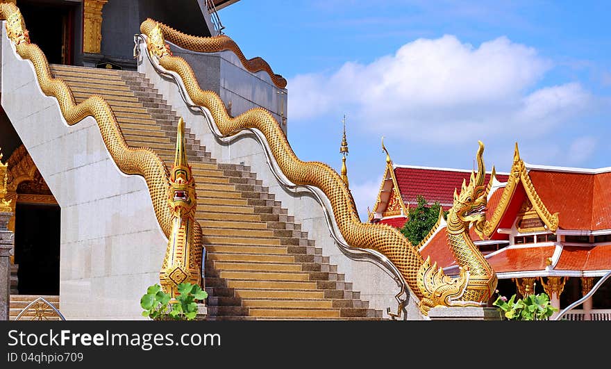
<svg viewBox="0 0 611 369">
<path fill-rule="evenodd" d="M 143 22 L 140 30 L 147 35 L 147 43 L 162 40 L 163 37 L 151 37 L 149 32 L 156 28 L 157 23 L 148 19 Z M 162 31 L 168 27 L 160 25 Z M 217 49 L 218 38 L 192 38 L 178 35 L 171 31 L 172 42 L 190 49 L 195 43 L 199 45 L 195 51 Z M 207 45 L 207 43 L 210 43 Z M 164 45 L 147 46 L 150 49 L 161 49 Z M 299 160 L 290 146 L 281 125 L 269 111 L 263 108 L 251 110 L 231 117 L 221 98 L 211 91 L 201 90 L 190 65 L 183 58 L 166 54 L 154 58 L 160 67 L 175 72 L 181 77 L 190 99 L 199 106 L 210 111 L 217 129 L 225 137 L 234 136 L 244 129 L 258 129 L 266 138 L 269 149 L 276 159 L 280 170 L 287 179 L 297 185 L 315 186 L 322 190 L 329 199 L 335 222 L 344 240 L 351 247 L 374 249 L 384 254 L 401 272 L 416 297 L 420 300 L 421 311 L 427 313 L 433 306 L 466 306 L 483 305 L 492 295 L 496 287 L 496 274 L 487 265 L 485 259 L 468 238 L 467 222 L 476 222 L 480 228 L 483 221 L 485 199 L 489 186 L 483 186 L 485 170 L 481 153 L 478 151 L 479 170 L 477 176 L 465 186 L 455 200 L 453 226 L 455 233 L 450 238 L 451 247 L 456 252 L 456 259 L 462 267 L 458 279 L 446 277 L 442 270 L 430 266 L 403 234 L 387 224 L 362 223 L 356 210 L 355 202 L 346 183 L 329 165 L 317 161 L 304 162 Z M 463 230 L 462 233 L 459 230 Z"/>
</svg>

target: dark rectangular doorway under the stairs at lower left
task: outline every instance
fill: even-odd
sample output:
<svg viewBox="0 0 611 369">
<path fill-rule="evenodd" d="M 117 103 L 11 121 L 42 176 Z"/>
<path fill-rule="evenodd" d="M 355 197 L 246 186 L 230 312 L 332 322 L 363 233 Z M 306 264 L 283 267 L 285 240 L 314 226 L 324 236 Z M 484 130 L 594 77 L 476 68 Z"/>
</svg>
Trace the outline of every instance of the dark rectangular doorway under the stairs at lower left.
<svg viewBox="0 0 611 369">
<path fill-rule="evenodd" d="M 19 295 L 59 295 L 60 207 L 17 203 L 15 217 Z"/>
</svg>

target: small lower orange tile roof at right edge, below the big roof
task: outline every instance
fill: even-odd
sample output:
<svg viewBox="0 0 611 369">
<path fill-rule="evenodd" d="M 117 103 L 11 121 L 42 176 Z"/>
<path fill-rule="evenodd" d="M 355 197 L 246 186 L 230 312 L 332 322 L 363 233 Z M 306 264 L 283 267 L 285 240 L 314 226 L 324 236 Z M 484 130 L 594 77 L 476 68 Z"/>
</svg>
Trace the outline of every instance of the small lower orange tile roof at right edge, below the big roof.
<svg viewBox="0 0 611 369">
<path fill-rule="evenodd" d="M 596 246 L 564 246 L 555 270 L 609 270 L 611 244 Z"/>
</svg>

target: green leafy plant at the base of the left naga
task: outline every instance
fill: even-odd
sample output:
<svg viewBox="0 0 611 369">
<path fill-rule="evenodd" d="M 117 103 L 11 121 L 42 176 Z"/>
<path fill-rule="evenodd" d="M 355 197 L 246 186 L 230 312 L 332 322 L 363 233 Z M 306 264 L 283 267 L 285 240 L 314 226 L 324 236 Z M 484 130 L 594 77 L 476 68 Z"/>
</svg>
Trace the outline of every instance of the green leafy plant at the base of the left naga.
<svg viewBox="0 0 611 369">
<path fill-rule="evenodd" d="M 205 300 L 208 293 L 190 283 L 178 284 L 176 288 L 178 295 L 175 301 L 171 301 L 169 293 L 163 292 L 159 284 L 149 286 L 147 293 L 140 299 L 140 306 L 144 309 L 142 315 L 153 320 L 193 320 L 197 315 L 196 300 Z"/>
</svg>

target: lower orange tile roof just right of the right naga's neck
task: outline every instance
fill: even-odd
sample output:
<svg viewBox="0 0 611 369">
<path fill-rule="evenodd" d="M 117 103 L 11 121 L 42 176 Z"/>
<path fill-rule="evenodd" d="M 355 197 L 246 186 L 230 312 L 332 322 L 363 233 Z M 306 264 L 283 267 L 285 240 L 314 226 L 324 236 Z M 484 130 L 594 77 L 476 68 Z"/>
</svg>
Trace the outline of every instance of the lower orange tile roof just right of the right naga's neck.
<svg viewBox="0 0 611 369">
<path fill-rule="evenodd" d="M 491 254 L 487 261 L 497 273 L 544 270 L 554 250 L 555 246 L 506 247 Z"/>
</svg>

